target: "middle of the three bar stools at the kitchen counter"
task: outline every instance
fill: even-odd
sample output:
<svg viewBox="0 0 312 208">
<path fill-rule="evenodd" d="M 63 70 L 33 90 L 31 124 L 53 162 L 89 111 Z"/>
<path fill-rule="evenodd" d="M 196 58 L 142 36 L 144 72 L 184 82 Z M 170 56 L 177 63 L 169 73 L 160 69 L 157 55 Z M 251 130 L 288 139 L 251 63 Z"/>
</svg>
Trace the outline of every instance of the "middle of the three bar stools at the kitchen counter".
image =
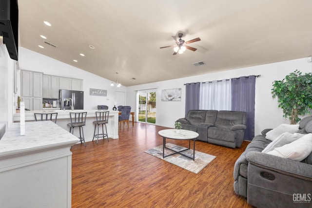
<svg viewBox="0 0 312 208">
<path fill-rule="evenodd" d="M 83 126 L 86 125 L 87 112 L 70 112 L 69 115 L 70 115 L 70 123 L 67 124 L 67 126 L 70 127 L 69 132 L 74 134 L 74 128 L 79 127 L 80 137 L 78 138 L 80 139 L 80 143 L 82 144 L 83 140 L 84 146 L 86 146 L 86 142 L 84 141 Z"/>
</svg>

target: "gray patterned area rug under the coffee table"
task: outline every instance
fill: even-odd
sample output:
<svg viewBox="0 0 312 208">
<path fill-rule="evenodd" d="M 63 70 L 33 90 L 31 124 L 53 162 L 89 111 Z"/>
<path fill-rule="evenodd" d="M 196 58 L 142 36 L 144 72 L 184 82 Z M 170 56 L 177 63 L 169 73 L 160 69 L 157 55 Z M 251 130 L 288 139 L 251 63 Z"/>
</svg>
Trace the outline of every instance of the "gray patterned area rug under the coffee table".
<svg viewBox="0 0 312 208">
<path fill-rule="evenodd" d="M 166 143 L 166 147 L 173 149 L 173 150 L 176 150 L 176 151 L 181 151 L 183 149 L 187 149 L 185 147 L 181 147 L 181 146 L 171 144 L 171 143 Z M 211 161 L 213 161 L 215 159 L 215 156 L 213 156 L 213 155 L 206 154 L 206 153 L 196 151 L 196 150 L 195 150 L 195 161 L 188 158 L 188 157 L 185 157 L 181 154 L 174 154 L 174 155 L 171 155 L 169 157 L 162 158 L 162 145 L 160 145 L 156 148 L 144 151 L 144 152 L 151 154 L 151 155 L 153 155 L 159 159 L 165 160 L 169 163 L 172 163 L 172 164 L 174 164 L 178 167 L 181 167 L 185 170 L 189 170 L 191 172 L 194 172 L 196 174 L 200 170 L 205 168 Z M 168 154 L 171 154 L 171 153 L 174 153 L 174 152 L 165 149 L 165 156 Z M 193 157 L 193 150 L 183 151 L 182 153 L 186 154 L 190 157 Z"/>
</svg>

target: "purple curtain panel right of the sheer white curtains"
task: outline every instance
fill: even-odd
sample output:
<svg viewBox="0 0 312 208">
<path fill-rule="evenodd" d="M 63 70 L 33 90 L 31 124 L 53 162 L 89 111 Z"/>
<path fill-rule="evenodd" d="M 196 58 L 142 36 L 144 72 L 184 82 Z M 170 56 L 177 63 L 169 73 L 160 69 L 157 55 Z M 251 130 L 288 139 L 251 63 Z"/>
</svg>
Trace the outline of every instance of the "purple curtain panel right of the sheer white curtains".
<svg viewBox="0 0 312 208">
<path fill-rule="evenodd" d="M 232 111 L 246 112 L 244 139 L 254 138 L 255 76 L 232 78 Z"/>
</svg>

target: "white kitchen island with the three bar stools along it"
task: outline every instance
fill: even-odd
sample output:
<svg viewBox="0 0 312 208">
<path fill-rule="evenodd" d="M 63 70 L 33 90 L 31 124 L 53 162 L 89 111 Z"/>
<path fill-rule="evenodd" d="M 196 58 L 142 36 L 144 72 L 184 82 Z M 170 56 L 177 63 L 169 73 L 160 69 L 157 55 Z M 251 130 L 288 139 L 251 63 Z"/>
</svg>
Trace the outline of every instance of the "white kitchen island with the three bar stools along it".
<svg viewBox="0 0 312 208">
<path fill-rule="evenodd" d="M 45 110 L 45 111 L 25 111 L 25 121 L 34 121 L 34 113 L 58 113 L 57 124 L 69 132 L 69 127 L 67 126 L 70 123 L 69 112 L 87 112 L 86 125 L 83 127 L 84 139 L 85 142 L 92 141 L 94 134 L 93 121 L 96 119 L 96 111 L 103 110 Z M 107 133 L 109 138 L 118 139 L 118 111 L 109 111 L 109 118 L 107 126 Z M 13 115 L 14 122 L 20 121 L 20 113 L 14 113 Z M 74 129 L 74 135 L 79 136 L 79 128 Z M 96 138 L 95 138 L 96 139 Z"/>
</svg>

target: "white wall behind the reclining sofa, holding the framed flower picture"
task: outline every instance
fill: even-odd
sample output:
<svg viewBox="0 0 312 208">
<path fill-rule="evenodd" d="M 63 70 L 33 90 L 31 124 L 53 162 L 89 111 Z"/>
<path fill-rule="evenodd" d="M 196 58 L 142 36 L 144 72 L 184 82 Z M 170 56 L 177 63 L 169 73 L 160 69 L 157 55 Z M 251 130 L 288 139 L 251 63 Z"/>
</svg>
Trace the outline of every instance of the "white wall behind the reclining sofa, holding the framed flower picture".
<svg viewBox="0 0 312 208">
<path fill-rule="evenodd" d="M 206 65 L 200 67 L 208 67 Z M 283 112 L 278 108 L 276 99 L 272 98 L 271 89 L 274 80 L 281 80 L 289 73 L 298 69 L 303 73 L 312 72 L 312 63 L 307 58 L 283 61 L 260 66 L 253 66 L 201 76 L 173 79 L 162 82 L 137 85 L 127 88 L 127 105 L 136 106 L 136 91 L 157 88 L 156 95 L 156 125 L 174 128 L 174 121 L 184 117 L 185 83 L 213 81 L 248 75 L 261 75 L 256 78 L 255 92 L 255 134 L 263 129 L 274 128 L 281 123 L 290 123 L 283 118 Z M 200 70 L 200 68 L 198 68 Z M 181 101 L 161 101 L 161 90 L 182 88 Z"/>
</svg>

